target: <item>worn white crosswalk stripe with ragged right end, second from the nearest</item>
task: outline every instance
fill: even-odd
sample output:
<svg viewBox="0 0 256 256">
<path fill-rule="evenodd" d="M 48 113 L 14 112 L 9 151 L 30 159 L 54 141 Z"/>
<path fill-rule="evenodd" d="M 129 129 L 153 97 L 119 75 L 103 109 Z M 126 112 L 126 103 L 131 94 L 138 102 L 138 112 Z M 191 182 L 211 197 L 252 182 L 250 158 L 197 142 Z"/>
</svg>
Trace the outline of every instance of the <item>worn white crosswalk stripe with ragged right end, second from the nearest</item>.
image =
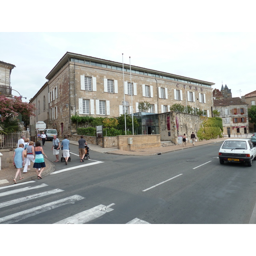
<svg viewBox="0 0 256 256">
<path fill-rule="evenodd" d="M 113 211 L 113 209 L 110 208 L 113 205 L 115 204 L 110 204 L 108 206 L 100 204 L 96 207 L 93 207 L 83 212 L 79 212 L 78 214 L 65 218 L 61 221 L 55 222 L 54 224 L 84 224 L 86 222 L 99 218 L 100 216 L 104 215 L 107 212 Z"/>
</svg>

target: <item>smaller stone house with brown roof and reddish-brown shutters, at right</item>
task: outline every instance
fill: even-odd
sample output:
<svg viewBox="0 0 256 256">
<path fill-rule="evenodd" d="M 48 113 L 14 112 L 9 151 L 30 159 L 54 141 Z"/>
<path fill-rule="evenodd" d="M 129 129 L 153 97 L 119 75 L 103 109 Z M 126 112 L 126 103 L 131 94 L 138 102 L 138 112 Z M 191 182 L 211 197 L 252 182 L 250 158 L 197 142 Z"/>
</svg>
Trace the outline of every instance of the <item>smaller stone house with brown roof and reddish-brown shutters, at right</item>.
<svg viewBox="0 0 256 256">
<path fill-rule="evenodd" d="M 248 104 L 239 97 L 214 99 L 214 110 L 220 112 L 223 134 L 241 135 L 249 133 Z"/>
</svg>

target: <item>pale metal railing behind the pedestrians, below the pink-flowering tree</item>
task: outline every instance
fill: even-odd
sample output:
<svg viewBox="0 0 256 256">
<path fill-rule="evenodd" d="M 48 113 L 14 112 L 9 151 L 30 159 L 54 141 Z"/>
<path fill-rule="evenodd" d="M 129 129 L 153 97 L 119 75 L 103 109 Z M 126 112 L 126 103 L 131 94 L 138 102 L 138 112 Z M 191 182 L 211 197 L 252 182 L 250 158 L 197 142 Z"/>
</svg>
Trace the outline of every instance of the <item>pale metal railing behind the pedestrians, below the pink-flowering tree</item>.
<svg viewBox="0 0 256 256">
<path fill-rule="evenodd" d="M 0 148 L 17 148 L 20 136 L 29 139 L 29 131 L 17 131 L 9 134 L 0 134 Z"/>
</svg>

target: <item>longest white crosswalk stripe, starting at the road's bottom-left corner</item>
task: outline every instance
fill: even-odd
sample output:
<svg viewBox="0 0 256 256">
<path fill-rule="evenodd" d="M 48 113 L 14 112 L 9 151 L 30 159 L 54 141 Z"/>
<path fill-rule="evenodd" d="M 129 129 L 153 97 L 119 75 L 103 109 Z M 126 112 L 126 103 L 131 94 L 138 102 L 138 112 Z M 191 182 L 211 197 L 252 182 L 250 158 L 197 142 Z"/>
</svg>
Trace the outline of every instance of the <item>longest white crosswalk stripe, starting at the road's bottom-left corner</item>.
<svg viewBox="0 0 256 256">
<path fill-rule="evenodd" d="M 82 200 L 84 197 L 81 195 L 73 195 L 67 198 L 63 198 L 57 201 L 50 202 L 48 204 L 43 204 L 38 207 L 34 207 L 28 210 L 24 210 L 22 212 L 17 212 L 8 216 L 5 216 L 3 218 L 0 218 L 0 223 L 2 224 L 10 224 L 14 223 L 20 220 L 23 220 L 25 218 L 29 218 L 31 216 L 37 215 L 42 212 L 49 211 L 51 209 L 55 209 L 57 207 L 63 206 L 65 204 L 75 204 L 76 201 Z"/>
</svg>

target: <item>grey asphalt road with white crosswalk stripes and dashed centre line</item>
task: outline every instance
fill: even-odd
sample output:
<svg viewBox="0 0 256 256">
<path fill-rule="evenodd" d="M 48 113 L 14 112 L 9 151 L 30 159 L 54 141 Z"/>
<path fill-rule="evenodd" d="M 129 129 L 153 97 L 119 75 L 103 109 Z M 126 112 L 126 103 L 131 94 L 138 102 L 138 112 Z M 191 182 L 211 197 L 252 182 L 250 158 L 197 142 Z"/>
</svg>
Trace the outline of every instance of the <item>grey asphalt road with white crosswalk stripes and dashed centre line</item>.
<svg viewBox="0 0 256 256">
<path fill-rule="evenodd" d="M 53 161 L 51 145 L 44 151 Z M 221 165 L 220 145 L 144 157 L 90 151 L 84 163 L 70 145 L 67 166 L 55 163 L 42 180 L 0 189 L 0 224 L 249 223 L 256 161 Z"/>
</svg>

